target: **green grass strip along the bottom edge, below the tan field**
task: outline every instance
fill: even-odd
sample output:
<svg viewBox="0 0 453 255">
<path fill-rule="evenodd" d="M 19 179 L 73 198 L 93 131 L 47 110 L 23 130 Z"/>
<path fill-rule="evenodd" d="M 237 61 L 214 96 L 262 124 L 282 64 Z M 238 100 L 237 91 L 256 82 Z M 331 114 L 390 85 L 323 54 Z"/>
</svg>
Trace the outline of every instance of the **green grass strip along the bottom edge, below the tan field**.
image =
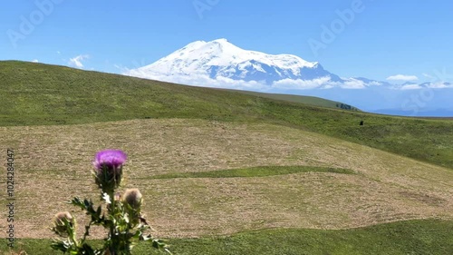
<svg viewBox="0 0 453 255">
<path fill-rule="evenodd" d="M 451 255 L 453 221 L 397 221 L 350 230 L 256 230 L 231 237 L 169 240 L 175 255 Z M 51 255 L 50 240 L 16 240 L 27 254 Z M 0 240 L 6 247 L 6 240 Z M 162 254 L 139 244 L 133 254 Z"/>
</svg>

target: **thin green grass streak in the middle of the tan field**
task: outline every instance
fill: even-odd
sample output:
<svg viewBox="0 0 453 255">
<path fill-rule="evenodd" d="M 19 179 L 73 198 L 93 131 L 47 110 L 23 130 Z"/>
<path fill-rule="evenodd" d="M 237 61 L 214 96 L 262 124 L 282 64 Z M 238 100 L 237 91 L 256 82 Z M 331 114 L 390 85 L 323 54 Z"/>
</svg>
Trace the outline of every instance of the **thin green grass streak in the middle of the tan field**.
<svg viewBox="0 0 453 255">
<path fill-rule="evenodd" d="M 208 172 L 177 172 L 149 176 L 149 179 L 173 178 L 232 178 L 232 177 L 265 177 L 284 175 L 297 172 L 334 172 L 354 174 L 352 170 L 342 168 L 314 167 L 314 166 L 258 166 L 251 168 L 227 169 Z"/>
</svg>

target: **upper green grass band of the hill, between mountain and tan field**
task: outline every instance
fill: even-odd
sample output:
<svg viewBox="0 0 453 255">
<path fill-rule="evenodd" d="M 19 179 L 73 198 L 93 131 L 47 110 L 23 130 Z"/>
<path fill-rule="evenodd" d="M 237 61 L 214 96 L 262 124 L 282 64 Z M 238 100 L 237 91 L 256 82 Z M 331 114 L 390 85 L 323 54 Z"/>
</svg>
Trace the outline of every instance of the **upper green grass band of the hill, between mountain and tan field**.
<svg viewBox="0 0 453 255">
<path fill-rule="evenodd" d="M 146 118 L 273 123 L 453 169 L 451 120 L 341 111 L 49 64 L 0 62 L 0 126 Z M 359 125 L 364 121 L 364 125 Z"/>
</svg>

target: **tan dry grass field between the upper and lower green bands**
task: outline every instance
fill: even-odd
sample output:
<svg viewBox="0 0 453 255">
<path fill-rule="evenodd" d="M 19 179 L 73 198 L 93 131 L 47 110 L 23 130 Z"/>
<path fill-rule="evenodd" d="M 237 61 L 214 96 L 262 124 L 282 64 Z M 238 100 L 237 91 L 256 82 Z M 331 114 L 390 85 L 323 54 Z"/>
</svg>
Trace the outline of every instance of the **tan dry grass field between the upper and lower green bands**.
<svg viewBox="0 0 453 255">
<path fill-rule="evenodd" d="M 263 228 L 343 229 L 420 218 L 453 218 L 453 172 L 312 132 L 268 124 L 135 120 L 68 126 L 2 127 L 16 153 L 16 236 L 50 238 L 53 214 L 81 211 L 72 196 L 98 199 L 94 153 L 129 155 L 124 188 L 144 193 L 160 237 L 229 234 Z M 352 169 L 262 178 L 143 177 L 260 165 Z M 5 192 L 0 194 L 5 201 Z M 2 237 L 5 221 L 0 222 Z M 82 228 L 81 228 L 82 229 Z M 100 230 L 94 231 L 99 237 Z"/>
</svg>

